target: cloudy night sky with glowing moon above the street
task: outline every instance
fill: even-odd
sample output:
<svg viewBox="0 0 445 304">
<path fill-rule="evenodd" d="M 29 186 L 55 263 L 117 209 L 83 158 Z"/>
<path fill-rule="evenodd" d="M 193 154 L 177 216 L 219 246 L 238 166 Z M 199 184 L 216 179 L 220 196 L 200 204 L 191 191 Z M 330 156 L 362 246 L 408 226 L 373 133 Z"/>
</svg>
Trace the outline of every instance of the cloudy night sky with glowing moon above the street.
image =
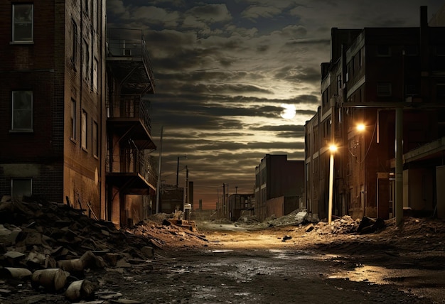
<svg viewBox="0 0 445 304">
<path fill-rule="evenodd" d="M 109 27 L 138 28 L 151 56 L 152 136 L 161 180 L 215 208 L 223 183 L 253 193 L 264 156 L 304 160 L 304 124 L 321 100 L 331 28 L 419 26 L 443 0 L 107 0 Z M 294 115 L 295 114 L 295 115 Z M 292 117 L 291 117 L 292 116 Z M 286 118 L 288 117 L 288 118 Z M 159 151 L 154 151 L 159 156 Z M 227 188 L 226 188 L 227 190 Z"/>
</svg>

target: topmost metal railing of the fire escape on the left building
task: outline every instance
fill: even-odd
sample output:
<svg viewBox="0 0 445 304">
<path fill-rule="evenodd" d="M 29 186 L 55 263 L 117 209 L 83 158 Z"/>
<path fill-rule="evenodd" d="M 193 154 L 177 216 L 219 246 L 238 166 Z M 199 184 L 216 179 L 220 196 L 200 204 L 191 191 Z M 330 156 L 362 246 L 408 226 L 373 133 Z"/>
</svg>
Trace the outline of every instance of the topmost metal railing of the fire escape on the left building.
<svg viewBox="0 0 445 304">
<path fill-rule="evenodd" d="M 154 80 L 153 65 L 149 52 L 146 49 L 144 32 L 133 28 L 108 28 L 107 30 L 107 57 L 140 58 L 149 79 Z"/>
</svg>

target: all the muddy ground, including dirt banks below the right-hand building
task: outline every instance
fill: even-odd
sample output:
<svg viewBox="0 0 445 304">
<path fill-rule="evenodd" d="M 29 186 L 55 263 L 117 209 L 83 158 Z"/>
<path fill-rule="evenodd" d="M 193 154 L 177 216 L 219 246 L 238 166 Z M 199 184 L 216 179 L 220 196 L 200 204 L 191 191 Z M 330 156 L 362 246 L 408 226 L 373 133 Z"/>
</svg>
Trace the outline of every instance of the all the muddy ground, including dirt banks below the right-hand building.
<svg viewBox="0 0 445 304">
<path fill-rule="evenodd" d="M 371 234 L 353 232 L 351 219 L 310 232 L 306 224 L 196 224 L 196 232 L 132 229 L 154 239 L 154 258 L 87 271 L 97 286 L 91 303 L 445 303 L 445 224 L 436 219 L 388 221 Z M 0 303 L 69 302 L 23 283 Z"/>
</svg>

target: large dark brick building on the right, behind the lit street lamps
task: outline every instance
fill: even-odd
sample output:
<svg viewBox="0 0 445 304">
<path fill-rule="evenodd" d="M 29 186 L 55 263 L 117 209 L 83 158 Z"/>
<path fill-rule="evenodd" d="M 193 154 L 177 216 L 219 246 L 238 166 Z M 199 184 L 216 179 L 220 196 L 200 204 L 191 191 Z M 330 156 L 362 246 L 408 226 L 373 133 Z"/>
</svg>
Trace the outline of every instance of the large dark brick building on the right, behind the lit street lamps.
<svg viewBox="0 0 445 304">
<path fill-rule="evenodd" d="M 333 214 L 395 215 L 396 125 L 403 130 L 403 207 L 433 215 L 441 205 L 444 35 L 445 28 L 428 25 L 425 6 L 418 28 L 332 29 L 321 106 L 306 122 L 306 205 L 313 217 L 328 217 L 331 141 L 338 146 Z M 359 123 L 364 131 L 355 128 Z"/>
</svg>

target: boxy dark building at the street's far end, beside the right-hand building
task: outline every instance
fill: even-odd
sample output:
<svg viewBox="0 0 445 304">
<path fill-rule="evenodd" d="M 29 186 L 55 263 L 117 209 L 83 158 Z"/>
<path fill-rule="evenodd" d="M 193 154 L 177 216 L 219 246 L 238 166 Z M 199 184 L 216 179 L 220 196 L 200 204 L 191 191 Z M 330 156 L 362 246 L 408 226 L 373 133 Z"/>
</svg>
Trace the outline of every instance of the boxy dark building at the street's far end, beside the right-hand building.
<svg viewBox="0 0 445 304">
<path fill-rule="evenodd" d="M 300 207 L 304 196 L 304 161 L 267 154 L 255 168 L 255 215 L 282 217 Z"/>
</svg>

